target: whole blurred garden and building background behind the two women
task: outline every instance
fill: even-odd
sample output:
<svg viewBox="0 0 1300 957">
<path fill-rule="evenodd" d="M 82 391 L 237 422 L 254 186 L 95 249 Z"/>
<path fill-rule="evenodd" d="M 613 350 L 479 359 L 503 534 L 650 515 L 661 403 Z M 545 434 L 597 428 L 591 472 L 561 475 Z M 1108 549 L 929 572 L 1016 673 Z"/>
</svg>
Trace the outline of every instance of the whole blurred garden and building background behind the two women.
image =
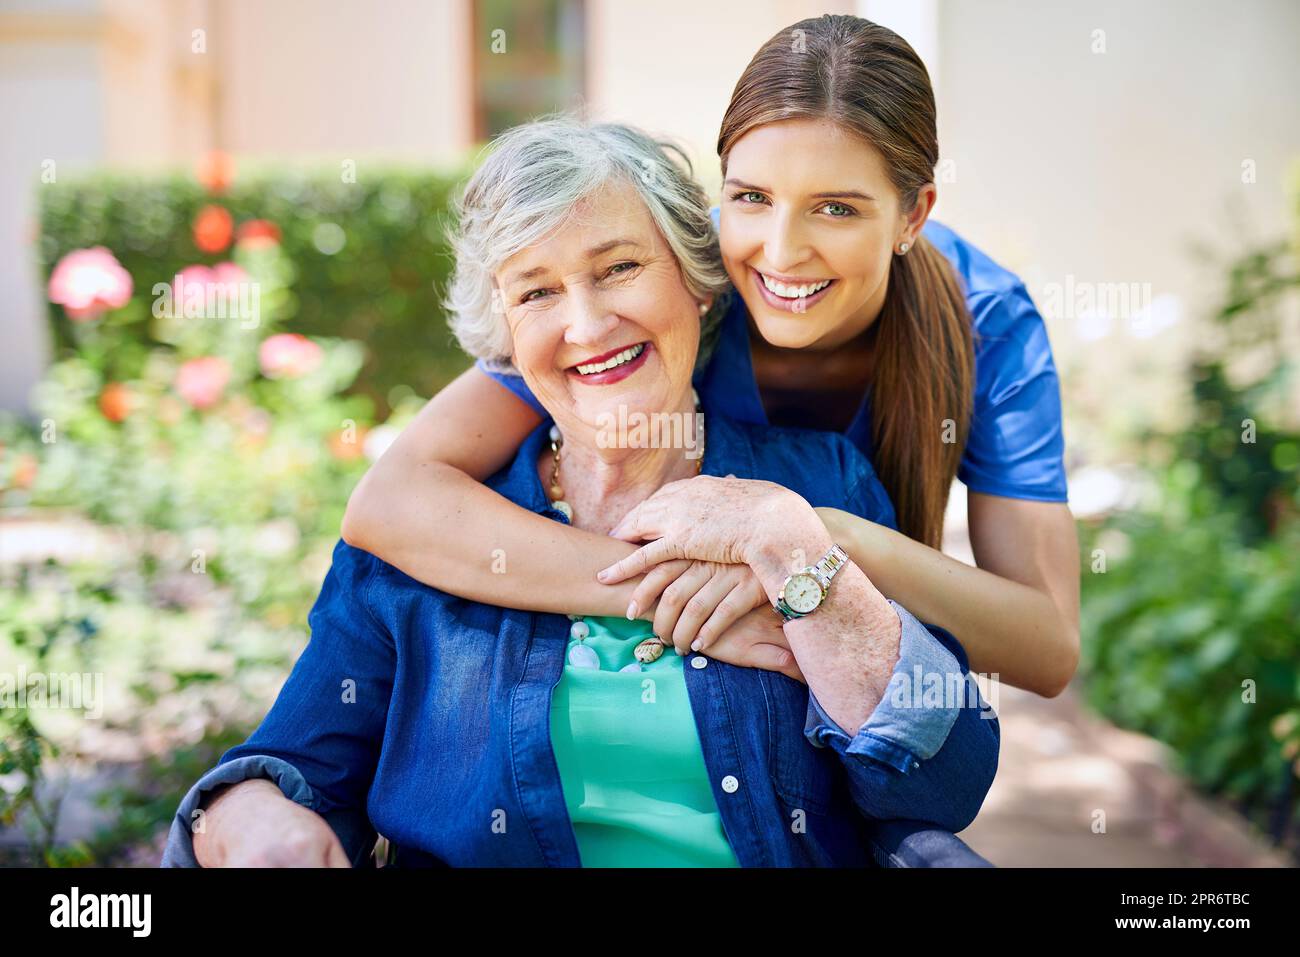
<svg viewBox="0 0 1300 957">
<path fill-rule="evenodd" d="M 963 836 L 1300 861 L 1295 4 L 0 0 L 0 865 L 156 865 L 265 714 L 348 493 L 468 365 L 439 299 L 478 147 L 585 108 L 716 196 L 741 68 L 827 12 L 926 60 L 935 218 L 1024 278 L 1062 378 L 1083 659 L 994 700 Z M 56 674 L 84 700 L 18 700 Z"/>
</svg>

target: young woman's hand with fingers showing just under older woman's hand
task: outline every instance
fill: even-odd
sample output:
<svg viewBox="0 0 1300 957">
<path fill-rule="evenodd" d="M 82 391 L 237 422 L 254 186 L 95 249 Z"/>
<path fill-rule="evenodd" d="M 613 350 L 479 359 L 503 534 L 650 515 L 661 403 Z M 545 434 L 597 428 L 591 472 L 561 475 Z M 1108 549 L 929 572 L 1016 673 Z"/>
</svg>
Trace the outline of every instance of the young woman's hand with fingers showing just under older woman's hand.
<svg viewBox="0 0 1300 957">
<path fill-rule="evenodd" d="M 677 654 L 686 654 L 707 650 L 749 611 L 767 603 L 748 564 L 673 559 L 654 566 L 637 584 L 628 616 L 653 609 L 654 633 Z"/>
</svg>

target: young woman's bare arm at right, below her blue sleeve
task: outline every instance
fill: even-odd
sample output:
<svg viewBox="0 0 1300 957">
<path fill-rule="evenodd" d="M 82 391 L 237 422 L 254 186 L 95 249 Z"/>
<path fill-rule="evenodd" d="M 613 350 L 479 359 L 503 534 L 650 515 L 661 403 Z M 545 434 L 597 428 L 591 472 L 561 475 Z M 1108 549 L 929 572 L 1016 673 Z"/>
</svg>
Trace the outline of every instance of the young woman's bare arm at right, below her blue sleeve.
<svg viewBox="0 0 1300 957">
<path fill-rule="evenodd" d="M 1045 697 L 1079 664 L 1079 540 L 1070 507 L 970 493 L 979 567 L 849 512 L 819 508 L 876 586 L 959 636 L 972 672 Z"/>
</svg>

